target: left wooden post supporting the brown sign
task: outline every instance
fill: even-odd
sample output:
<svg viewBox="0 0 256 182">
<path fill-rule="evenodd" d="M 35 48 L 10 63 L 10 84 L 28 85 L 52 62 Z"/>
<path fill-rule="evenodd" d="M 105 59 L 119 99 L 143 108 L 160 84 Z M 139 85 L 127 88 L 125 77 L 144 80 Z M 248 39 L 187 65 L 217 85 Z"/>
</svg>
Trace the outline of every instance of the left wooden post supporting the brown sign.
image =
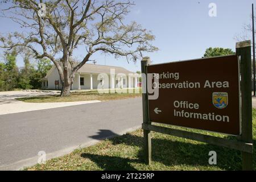
<svg viewBox="0 0 256 182">
<path fill-rule="evenodd" d="M 143 123 L 150 125 L 150 119 L 148 115 L 148 96 L 147 96 L 147 65 L 150 63 L 149 57 L 144 57 L 141 61 L 141 73 L 142 76 L 142 109 L 143 109 Z M 144 155 L 146 163 L 151 164 L 151 132 L 150 130 L 143 129 L 144 138 Z"/>
</svg>

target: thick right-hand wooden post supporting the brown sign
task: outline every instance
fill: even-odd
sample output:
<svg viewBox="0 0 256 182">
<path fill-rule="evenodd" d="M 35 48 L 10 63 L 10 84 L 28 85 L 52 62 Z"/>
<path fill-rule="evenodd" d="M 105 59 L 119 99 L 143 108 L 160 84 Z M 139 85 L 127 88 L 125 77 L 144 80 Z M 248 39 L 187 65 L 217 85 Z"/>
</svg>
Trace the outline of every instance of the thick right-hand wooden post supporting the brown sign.
<svg viewBox="0 0 256 182">
<path fill-rule="evenodd" d="M 241 140 L 253 143 L 252 108 L 251 108 L 251 42 L 250 40 L 236 44 L 236 54 L 240 57 L 241 71 L 241 105 L 242 135 Z M 242 152 L 242 169 L 253 169 L 253 154 Z"/>
</svg>

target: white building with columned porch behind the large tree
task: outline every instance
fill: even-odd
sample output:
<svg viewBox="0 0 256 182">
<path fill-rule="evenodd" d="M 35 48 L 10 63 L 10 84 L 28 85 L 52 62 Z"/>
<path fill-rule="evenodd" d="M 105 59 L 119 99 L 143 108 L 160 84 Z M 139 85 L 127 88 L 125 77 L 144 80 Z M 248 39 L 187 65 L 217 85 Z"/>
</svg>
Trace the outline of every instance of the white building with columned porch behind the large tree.
<svg viewBox="0 0 256 182">
<path fill-rule="evenodd" d="M 137 88 L 139 77 L 122 67 L 98 64 L 84 64 L 75 74 L 71 90 L 102 88 Z M 59 72 L 55 65 L 42 80 L 42 89 L 59 90 L 62 88 Z"/>
</svg>

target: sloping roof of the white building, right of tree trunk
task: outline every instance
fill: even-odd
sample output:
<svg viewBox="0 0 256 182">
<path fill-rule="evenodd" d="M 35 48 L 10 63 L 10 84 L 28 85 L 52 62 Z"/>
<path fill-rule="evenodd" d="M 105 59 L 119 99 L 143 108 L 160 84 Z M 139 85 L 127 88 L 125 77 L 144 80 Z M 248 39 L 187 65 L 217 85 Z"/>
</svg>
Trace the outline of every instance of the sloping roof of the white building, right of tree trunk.
<svg viewBox="0 0 256 182">
<path fill-rule="evenodd" d="M 122 67 L 113 67 L 113 66 L 108 66 L 108 65 L 99 65 L 99 64 L 84 64 L 82 67 L 77 71 L 81 73 L 110 73 L 110 69 L 114 69 L 115 74 L 117 73 L 124 73 L 124 74 L 129 74 L 129 73 L 134 73 L 131 71 L 128 71 L 125 68 Z"/>
</svg>

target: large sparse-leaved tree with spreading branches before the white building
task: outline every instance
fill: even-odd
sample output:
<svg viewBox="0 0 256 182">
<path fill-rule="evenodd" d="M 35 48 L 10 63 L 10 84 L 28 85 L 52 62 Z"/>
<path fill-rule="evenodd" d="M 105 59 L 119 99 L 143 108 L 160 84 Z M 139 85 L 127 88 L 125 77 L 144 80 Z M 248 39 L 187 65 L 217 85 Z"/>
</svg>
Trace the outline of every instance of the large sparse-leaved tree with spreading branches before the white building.
<svg viewBox="0 0 256 182">
<path fill-rule="evenodd" d="M 36 59 L 47 58 L 59 71 L 61 96 L 69 96 L 75 73 L 96 52 L 125 56 L 127 61 L 153 52 L 155 36 L 136 22 L 126 23 L 130 0 L 51 0 L 44 1 L 46 14 L 35 0 L 15 0 L 3 14 L 22 26 L 20 32 L 1 36 L 2 48 L 28 49 Z M 13 15 L 14 14 L 14 15 Z M 79 64 L 72 61 L 73 51 L 84 49 Z"/>
</svg>

